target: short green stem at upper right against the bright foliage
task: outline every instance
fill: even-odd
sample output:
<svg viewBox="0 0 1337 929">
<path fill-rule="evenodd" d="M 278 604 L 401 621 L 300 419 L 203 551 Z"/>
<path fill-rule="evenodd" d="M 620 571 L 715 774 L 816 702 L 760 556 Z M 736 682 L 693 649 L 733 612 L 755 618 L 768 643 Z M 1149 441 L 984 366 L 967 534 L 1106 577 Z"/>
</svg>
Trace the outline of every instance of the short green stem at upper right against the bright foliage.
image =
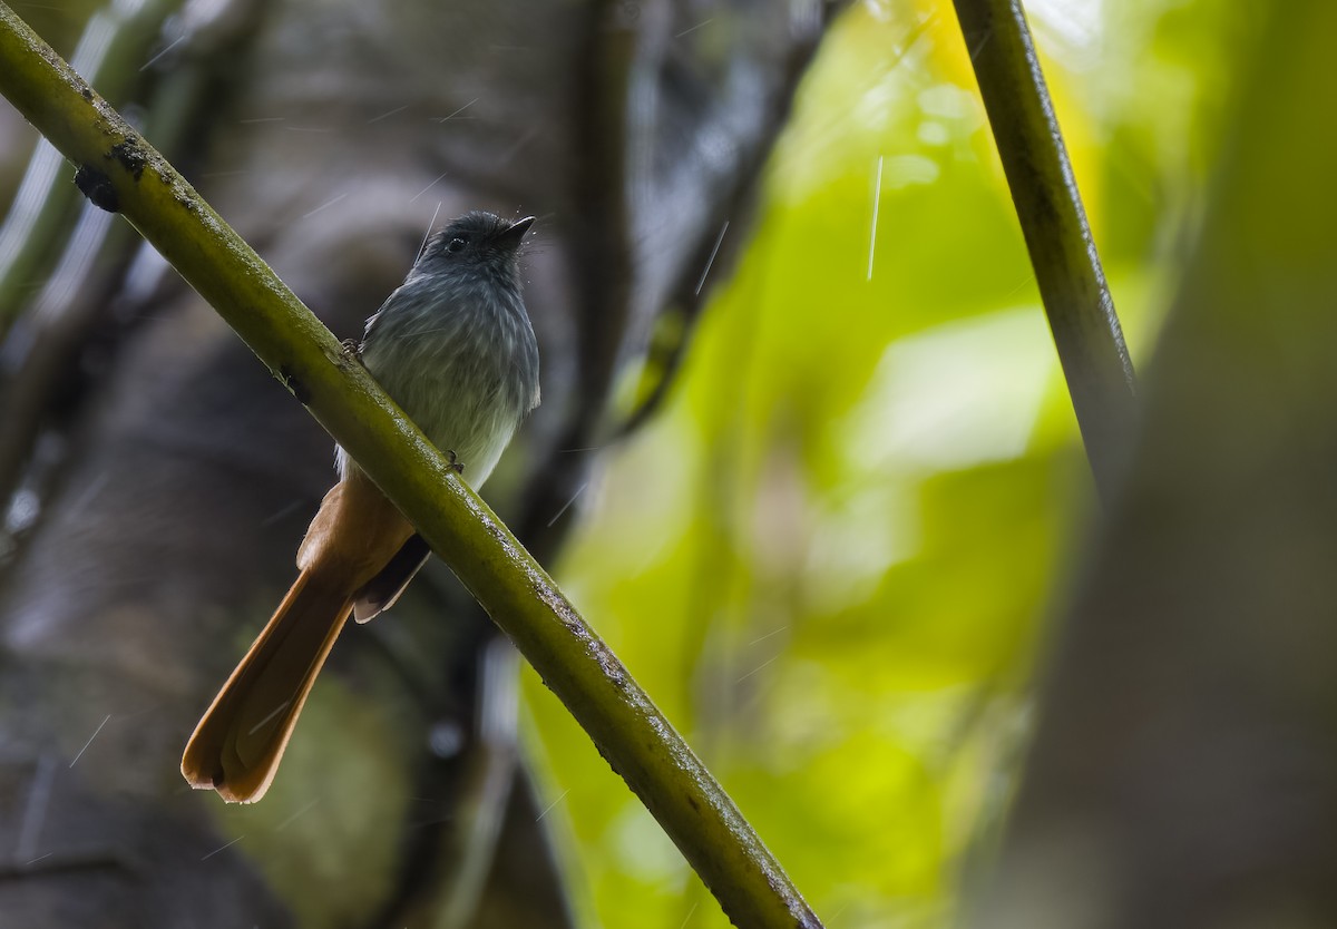
<svg viewBox="0 0 1337 929">
<path fill-rule="evenodd" d="M 955 1 L 1087 460 L 1108 500 L 1136 416 L 1132 362 L 1050 91 L 1020 0 Z"/>
</svg>

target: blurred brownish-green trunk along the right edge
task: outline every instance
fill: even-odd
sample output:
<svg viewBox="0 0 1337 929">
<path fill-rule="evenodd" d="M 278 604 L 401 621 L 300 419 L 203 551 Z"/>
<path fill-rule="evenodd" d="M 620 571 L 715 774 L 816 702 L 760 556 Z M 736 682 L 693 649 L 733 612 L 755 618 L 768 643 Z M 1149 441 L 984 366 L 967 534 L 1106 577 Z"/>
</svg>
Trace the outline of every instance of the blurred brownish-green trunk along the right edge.
<svg viewBox="0 0 1337 929">
<path fill-rule="evenodd" d="M 1337 7 L 1253 24 L 972 926 L 1337 925 Z"/>
</svg>

